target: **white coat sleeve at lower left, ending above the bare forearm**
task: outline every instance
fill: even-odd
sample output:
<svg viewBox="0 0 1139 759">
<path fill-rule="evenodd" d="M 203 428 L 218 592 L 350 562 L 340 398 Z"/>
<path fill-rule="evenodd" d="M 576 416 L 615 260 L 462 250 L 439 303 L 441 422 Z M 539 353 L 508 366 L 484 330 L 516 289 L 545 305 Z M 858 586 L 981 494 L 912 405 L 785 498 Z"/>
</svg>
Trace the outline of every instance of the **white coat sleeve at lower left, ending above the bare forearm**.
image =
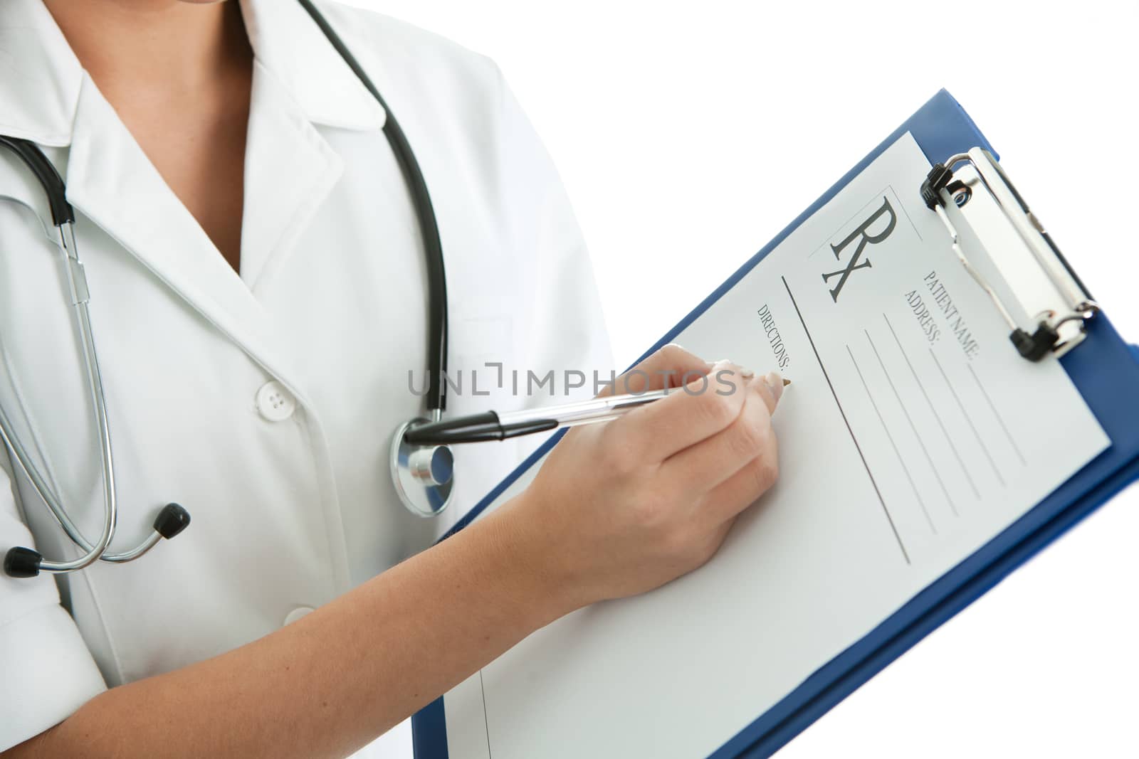
<svg viewBox="0 0 1139 759">
<path fill-rule="evenodd" d="M 32 546 L 0 455 L 0 551 Z M 15 579 L 0 572 L 0 751 L 67 718 L 106 690 L 95 659 L 50 575 Z"/>
</svg>

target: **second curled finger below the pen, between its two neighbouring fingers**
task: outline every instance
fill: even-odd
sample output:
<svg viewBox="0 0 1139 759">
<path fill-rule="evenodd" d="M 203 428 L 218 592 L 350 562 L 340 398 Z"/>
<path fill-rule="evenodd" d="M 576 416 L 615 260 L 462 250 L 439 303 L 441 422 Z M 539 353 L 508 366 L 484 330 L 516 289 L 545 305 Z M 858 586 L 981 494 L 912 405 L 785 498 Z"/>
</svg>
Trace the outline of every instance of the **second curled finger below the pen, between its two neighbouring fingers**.
<svg viewBox="0 0 1139 759">
<path fill-rule="evenodd" d="M 769 381 L 767 378 L 748 381 L 740 393 L 744 404 L 736 419 L 708 439 L 670 456 L 661 475 L 689 496 L 700 497 L 773 448 L 771 412 L 782 381 L 777 381 L 776 387 Z"/>
</svg>

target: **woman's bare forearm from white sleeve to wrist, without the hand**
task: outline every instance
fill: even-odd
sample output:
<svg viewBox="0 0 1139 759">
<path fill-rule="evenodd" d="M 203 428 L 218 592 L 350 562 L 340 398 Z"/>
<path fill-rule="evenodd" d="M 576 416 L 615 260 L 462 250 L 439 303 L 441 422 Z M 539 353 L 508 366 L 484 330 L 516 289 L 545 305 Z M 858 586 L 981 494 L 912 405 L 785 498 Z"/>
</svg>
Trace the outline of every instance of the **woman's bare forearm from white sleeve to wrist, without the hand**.
<svg viewBox="0 0 1139 759">
<path fill-rule="evenodd" d="M 495 517 L 259 641 L 112 688 L 11 756 L 350 753 L 570 610 Z"/>
</svg>

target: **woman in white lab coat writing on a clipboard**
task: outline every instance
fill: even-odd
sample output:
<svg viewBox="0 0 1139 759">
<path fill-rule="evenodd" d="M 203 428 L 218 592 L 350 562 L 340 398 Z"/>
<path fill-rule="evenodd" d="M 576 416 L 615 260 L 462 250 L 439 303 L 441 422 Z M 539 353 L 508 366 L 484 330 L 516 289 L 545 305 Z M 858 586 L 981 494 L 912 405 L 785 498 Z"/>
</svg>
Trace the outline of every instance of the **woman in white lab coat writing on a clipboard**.
<svg viewBox="0 0 1139 759">
<path fill-rule="evenodd" d="M 588 256 L 498 69 L 398 22 L 320 8 L 417 148 L 446 255 L 451 364 L 608 365 Z M 385 110 L 290 0 L 3 0 L 0 133 L 64 175 L 91 284 L 137 562 L 0 577 L 0 751 L 344 756 L 534 629 L 656 587 L 772 482 L 778 389 L 724 371 L 557 447 L 435 547 L 388 478 L 423 411 L 423 242 Z M 87 535 L 98 439 L 39 185 L 0 154 L 0 404 Z M 698 382 L 698 380 L 696 380 Z M 621 389 L 618 387 L 618 389 Z M 449 413 L 550 403 L 456 394 Z M 457 451 L 457 511 L 523 453 Z M 71 544 L 0 455 L 0 548 Z M 410 558 L 409 558 L 410 556 Z"/>
</svg>

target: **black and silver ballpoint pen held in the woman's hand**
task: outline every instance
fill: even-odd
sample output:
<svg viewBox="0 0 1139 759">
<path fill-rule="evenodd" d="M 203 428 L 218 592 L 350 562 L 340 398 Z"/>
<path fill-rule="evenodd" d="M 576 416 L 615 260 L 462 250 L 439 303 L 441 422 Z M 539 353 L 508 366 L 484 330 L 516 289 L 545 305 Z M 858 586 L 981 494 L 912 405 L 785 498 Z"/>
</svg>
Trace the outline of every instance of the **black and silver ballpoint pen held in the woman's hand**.
<svg viewBox="0 0 1139 759">
<path fill-rule="evenodd" d="M 790 385 L 785 379 L 784 386 Z M 629 395 L 611 395 L 577 403 L 566 403 L 523 411 L 485 411 L 437 422 L 411 427 L 403 439 L 412 445 L 451 445 L 454 443 L 483 443 L 505 440 L 523 435 L 546 432 L 560 427 L 608 422 L 646 404 L 659 401 L 685 388 L 673 387 Z"/>
</svg>

